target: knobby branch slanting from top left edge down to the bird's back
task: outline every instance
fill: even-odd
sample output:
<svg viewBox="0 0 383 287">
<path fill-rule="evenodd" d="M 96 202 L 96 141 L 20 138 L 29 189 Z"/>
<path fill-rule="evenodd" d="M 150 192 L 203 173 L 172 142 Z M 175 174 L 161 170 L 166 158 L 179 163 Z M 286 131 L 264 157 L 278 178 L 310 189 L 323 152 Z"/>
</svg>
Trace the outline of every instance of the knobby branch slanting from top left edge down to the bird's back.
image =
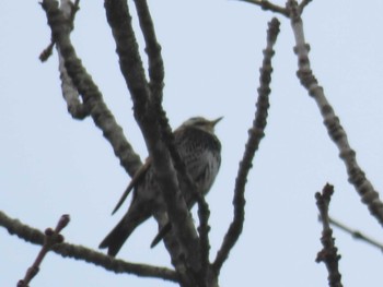
<svg viewBox="0 0 383 287">
<path fill-rule="evenodd" d="M 141 166 L 140 158 L 126 141 L 123 129 L 117 124 L 114 116 L 103 101 L 98 87 L 77 57 L 69 38 L 70 27 L 68 26 L 68 21 L 58 9 L 56 1 L 44 0 L 43 8 L 48 17 L 53 38 L 65 59 L 66 70 L 82 96 L 83 105 L 90 111 L 94 123 L 103 131 L 104 136 L 112 144 L 121 166 L 132 177 Z"/>
</svg>

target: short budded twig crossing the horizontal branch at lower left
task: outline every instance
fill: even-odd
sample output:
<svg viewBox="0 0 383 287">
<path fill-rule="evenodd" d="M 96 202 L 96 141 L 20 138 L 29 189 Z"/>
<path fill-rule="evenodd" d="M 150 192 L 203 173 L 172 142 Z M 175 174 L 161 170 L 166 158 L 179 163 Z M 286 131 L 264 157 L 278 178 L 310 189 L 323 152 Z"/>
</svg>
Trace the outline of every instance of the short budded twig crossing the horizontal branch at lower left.
<svg viewBox="0 0 383 287">
<path fill-rule="evenodd" d="M 60 235 L 60 231 L 68 225 L 69 220 L 69 215 L 65 214 L 59 219 L 55 230 L 51 228 L 47 228 L 45 230 L 44 244 L 38 252 L 35 262 L 27 268 L 24 279 L 19 280 L 18 287 L 27 287 L 30 282 L 37 275 L 39 265 L 42 264 L 45 255 L 54 246 L 63 242 L 63 236 Z"/>
</svg>

